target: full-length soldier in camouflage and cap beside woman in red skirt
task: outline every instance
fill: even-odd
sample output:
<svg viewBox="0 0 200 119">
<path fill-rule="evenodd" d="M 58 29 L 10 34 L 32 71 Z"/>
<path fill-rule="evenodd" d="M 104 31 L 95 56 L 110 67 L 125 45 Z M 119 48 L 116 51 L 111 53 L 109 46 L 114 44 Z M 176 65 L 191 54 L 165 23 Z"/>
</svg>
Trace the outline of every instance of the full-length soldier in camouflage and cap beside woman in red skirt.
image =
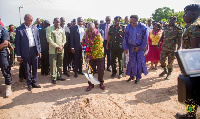
<svg viewBox="0 0 200 119">
<path fill-rule="evenodd" d="M 164 71 L 159 76 L 164 76 L 167 74 L 166 79 L 170 79 L 171 72 L 173 71 L 173 63 L 175 59 L 174 51 L 176 50 L 176 45 L 178 44 L 177 49 L 181 46 L 181 36 L 182 30 L 178 26 L 175 25 L 176 17 L 171 16 L 169 19 L 169 25 L 164 27 L 164 32 L 160 41 L 158 43 L 158 47 L 160 46 L 160 42 L 163 41 L 161 46 L 161 58 L 160 63 L 161 67 L 164 68 Z M 168 65 L 166 65 L 166 60 L 168 57 Z"/>
</svg>

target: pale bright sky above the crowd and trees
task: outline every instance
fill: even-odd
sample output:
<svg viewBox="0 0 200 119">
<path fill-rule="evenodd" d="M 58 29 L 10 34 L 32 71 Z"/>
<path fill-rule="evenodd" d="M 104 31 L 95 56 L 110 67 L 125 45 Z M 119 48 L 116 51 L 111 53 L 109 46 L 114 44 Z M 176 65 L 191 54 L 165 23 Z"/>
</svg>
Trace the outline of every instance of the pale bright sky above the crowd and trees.
<svg viewBox="0 0 200 119">
<path fill-rule="evenodd" d="M 19 26 L 19 6 L 21 19 L 25 14 L 47 19 L 53 23 L 55 17 L 65 17 L 66 23 L 77 17 L 105 20 L 106 16 L 130 16 L 150 18 L 157 8 L 169 7 L 175 12 L 183 11 L 189 4 L 200 4 L 200 0 L 0 0 L 0 17 L 5 26 Z"/>
</svg>

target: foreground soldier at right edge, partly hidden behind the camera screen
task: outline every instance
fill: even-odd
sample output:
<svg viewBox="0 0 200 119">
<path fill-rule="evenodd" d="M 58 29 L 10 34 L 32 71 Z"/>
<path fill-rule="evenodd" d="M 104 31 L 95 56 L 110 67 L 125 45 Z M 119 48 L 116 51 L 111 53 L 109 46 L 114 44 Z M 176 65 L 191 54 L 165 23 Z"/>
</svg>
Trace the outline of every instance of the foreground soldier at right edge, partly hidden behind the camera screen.
<svg viewBox="0 0 200 119">
<path fill-rule="evenodd" d="M 191 4 L 185 7 L 183 19 L 189 26 L 183 33 L 182 48 L 200 48 L 200 5 Z M 200 80 L 190 80 L 193 88 L 193 99 L 197 101 L 197 105 L 200 105 Z M 190 103 L 189 103 L 190 105 Z M 194 114 L 188 112 L 187 114 L 177 113 L 176 116 L 179 119 L 196 119 L 197 105 L 194 107 Z"/>
</svg>

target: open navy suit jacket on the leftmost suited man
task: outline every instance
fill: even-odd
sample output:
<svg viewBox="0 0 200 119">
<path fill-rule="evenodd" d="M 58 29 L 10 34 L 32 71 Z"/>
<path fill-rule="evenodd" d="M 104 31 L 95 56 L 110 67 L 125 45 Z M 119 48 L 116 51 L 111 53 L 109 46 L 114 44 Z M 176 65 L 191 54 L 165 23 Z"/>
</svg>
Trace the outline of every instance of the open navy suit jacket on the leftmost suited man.
<svg viewBox="0 0 200 119">
<path fill-rule="evenodd" d="M 40 46 L 40 38 L 38 29 L 35 26 L 31 26 L 32 33 L 33 33 L 33 39 L 35 42 L 35 47 L 37 49 L 37 53 L 39 54 L 41 52 L 41 46 Z M 29 56 L 29 39 L 28 39 L 28 33 L 26 31 L 25 25 L 21 25 L 16 29 L 16 36 L 15 36 L 15 47 L 16 47 L 16 53 L 17 56 L 21 56 L 22 58 L 28 58 Z"/>
</svg>

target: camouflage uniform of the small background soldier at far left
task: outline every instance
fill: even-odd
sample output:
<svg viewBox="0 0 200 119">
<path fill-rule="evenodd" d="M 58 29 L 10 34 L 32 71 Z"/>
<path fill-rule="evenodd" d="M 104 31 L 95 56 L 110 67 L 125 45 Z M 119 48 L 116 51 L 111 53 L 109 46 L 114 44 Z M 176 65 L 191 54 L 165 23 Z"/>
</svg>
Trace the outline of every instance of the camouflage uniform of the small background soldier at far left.
<svg viewBox="0 0 200 119">
<path fill-rule="evenodd" d="M 10 32 L 10 44 L 11 46 L 13 47 L 14 50 L 11 50 L 10 49 L 10 65 L 14 65 L 15 64 L 15 35 L 16 33 L 15 32 Z"/>
</svg>

